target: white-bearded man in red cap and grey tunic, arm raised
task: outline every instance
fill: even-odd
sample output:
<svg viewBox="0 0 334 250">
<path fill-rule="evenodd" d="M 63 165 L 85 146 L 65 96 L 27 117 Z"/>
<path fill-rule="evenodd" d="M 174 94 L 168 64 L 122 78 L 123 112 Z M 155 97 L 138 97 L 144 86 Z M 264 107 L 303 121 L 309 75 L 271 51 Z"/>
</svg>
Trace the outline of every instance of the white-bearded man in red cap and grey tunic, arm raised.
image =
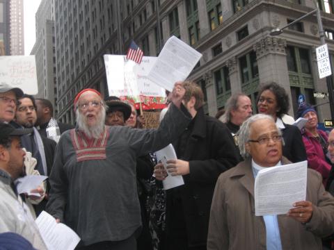
<svg viewBox="0 0 334 250">
<path fill-rule="evenodd" d="M 175 140 L 191 121 L 175 84 L 173 105 L 157 130 L 105 126 L 100 92 L 77 94 L 77 127 L 61 135 L 49 178 L 47 211 L 81 238 L 79 249 L 136 249 L 141 211 L 136 158 Z"/>
</svg>

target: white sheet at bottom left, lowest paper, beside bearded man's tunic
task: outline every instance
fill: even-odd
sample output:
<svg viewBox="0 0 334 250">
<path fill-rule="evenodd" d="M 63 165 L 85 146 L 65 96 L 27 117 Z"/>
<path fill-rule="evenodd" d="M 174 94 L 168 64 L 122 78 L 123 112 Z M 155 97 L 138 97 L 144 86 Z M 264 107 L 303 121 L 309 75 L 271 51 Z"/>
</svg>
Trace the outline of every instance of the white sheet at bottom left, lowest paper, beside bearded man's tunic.
<svg viewBox="0 0 334 250">
<path fill-rule="evenodd" d="M 80 241 L 79 236 L 70 227 L 57 223 L 56 219 L 42 211 L 35 220 L 40 234 L 49 250 L 73 250 Z"/>
</svg>

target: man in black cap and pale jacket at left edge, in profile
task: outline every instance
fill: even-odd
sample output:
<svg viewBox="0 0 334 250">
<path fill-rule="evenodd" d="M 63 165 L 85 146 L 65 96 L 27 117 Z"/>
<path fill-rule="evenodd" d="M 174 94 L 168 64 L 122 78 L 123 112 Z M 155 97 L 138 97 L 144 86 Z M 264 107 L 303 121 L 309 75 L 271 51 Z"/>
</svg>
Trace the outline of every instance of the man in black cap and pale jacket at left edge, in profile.
<svg viewBox="0 0 334 250">
<path fill-rule="evenodd" d="M 31 133 L 31 129 L 15 129 L 0 122 L 0 131 L 0 233 L 17 233 L 36 249 L 47 249 L 33 215 L 13 183 L 24 171 L 25 152 L 20 137 Z"/>
</svg>

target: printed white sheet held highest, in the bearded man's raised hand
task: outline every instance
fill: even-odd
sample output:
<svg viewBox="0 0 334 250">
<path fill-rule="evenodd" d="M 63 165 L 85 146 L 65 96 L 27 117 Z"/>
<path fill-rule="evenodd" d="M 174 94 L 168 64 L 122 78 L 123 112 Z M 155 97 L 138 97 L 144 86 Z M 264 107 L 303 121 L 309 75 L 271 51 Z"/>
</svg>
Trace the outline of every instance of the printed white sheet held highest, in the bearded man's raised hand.
<svg viewBox="0 0 334 250">
<path fill-rule="evenodd" d="M 201 53 L 173 35 L 159 53 L 148 78 L 172 91 L 175 82 L 184 81 L 189 76 L 201 56 Z"/>
</svg>

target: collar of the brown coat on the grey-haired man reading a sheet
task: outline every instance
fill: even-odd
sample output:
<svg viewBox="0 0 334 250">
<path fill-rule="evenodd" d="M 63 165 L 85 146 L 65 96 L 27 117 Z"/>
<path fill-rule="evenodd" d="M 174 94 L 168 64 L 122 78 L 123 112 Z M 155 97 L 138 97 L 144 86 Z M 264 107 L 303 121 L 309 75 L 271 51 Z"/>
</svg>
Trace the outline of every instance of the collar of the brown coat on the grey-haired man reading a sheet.
<svg viewBox="0 0 334 250">
<path fill-rule="evenodd" d="M 289 160 L 282 156 L 282 165 L 289 164 Z M 252 158 L 248 157 L 243 162 L 239 163 L 236 167 L 232 168 L 234 171 L 230 175 L 230 178 L 239 178 L 239 181 L 254 198 L 254 184 L 255 179 L 252 170 Z"/>
</svg>

